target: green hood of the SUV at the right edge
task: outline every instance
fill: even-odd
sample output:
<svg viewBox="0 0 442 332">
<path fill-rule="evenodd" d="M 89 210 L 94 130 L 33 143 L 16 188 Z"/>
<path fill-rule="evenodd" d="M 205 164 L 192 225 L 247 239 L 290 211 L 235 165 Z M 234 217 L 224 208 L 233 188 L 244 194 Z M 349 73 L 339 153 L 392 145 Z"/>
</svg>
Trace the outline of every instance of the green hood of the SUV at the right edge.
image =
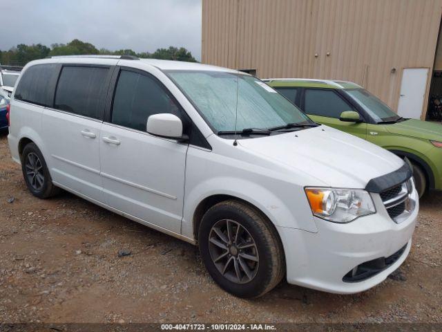
<svg viewBox="0 0 442 332">
<path fill-rule="evenodd" d="M 405 120 L 395 124 L 384 124 L 385 129 L 396 135 L 442 141 L 442 124 L 439 122 Z"/>
</svg>

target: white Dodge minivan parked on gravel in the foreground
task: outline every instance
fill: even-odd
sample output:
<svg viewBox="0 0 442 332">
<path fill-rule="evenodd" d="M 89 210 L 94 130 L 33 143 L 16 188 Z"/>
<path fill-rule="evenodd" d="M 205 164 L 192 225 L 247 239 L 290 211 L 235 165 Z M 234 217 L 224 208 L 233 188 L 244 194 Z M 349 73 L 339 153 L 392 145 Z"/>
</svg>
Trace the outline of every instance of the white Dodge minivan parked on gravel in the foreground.
<svg viewBox="0 0 442 332">
<path fill-rule="evenodd" d="M 224 290 L 333 293 L 410 251 L 418 197 L 401 158 L 316 124 L 251 75 L 122 57 L 30 62 L 8 136 L 32 194 L 59 188 L 191 243 Z"/>
</svg>

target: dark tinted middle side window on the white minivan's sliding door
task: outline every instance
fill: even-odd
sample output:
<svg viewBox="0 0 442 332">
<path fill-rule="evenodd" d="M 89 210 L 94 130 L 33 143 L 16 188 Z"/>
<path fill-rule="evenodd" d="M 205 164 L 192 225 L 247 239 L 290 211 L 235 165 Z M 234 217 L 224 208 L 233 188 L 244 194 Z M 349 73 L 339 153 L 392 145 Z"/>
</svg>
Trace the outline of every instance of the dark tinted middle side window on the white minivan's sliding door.
<svg viewBox="0 0 442 332">
<path fill-rule="evenodd" d="M 55 93 L 55 109 L 102 120 L 109 68 L 64 66 Z"/>
</svg>

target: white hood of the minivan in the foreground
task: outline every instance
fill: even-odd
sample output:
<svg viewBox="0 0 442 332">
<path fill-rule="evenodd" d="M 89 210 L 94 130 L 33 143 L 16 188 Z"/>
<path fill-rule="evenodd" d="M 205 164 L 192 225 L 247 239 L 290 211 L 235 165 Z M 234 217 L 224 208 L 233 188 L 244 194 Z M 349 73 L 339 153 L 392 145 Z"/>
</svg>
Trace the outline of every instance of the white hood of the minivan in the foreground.
<svg viewBox="0 0 442 332">
<path fill-rule="evenodd" d="M 330 187 L 363 189 L 372 178 L 394 172 L 404 163 L 377 145 L 324 125 L 239 144 Z"/>
</svg>

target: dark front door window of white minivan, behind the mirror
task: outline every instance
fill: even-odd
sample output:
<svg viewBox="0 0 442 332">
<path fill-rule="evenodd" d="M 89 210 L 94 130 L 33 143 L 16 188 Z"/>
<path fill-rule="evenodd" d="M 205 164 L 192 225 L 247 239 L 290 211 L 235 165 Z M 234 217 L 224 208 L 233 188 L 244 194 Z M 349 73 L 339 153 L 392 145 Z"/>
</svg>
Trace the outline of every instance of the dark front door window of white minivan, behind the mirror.
<svg viewBox="0 0 442 332">
<path fill-rule="evenodd" d="M 112 123 L 146 131 L 147 118 L 157 113 L 180 117 L 180 109 L 153 77 L 121 71 L 113 100 Z"/>
</svg>

